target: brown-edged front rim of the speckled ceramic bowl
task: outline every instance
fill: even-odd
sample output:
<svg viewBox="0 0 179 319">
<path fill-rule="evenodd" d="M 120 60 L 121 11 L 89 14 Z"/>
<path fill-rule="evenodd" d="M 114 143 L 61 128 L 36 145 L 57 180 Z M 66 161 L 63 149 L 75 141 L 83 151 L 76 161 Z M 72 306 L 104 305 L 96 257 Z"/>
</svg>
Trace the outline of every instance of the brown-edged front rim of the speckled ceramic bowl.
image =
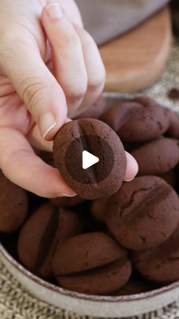
<svg viewBox="0 0 179 319">
<path fill-rule="evenodd" d="M 162 288 L 158 288 L 149 292 L 135 294 L 135 295 L 126 295 L 126 296 L 96 296 L 96 295 L 87 295 L 87 294 L 81 294 L 77 293 L 75 291 L 70 291 L 61 287 L 58 287 L 54 284 L 51 284 L 44 279 L 32 274 L 29 270 L 24 268 L 18 261 L 16 261 L 4 248 L 4 246 L 0 243 L 0 253 L 3 257 L 21 274 L 23 274 L 25 277 L 29 278 L 36 284 L 45 287 L 53 292 L 66 295 L 72 298 L 78 298 L 81 300 L 88 300 L 88 301 L 97 301 L 97 302 L 129 302 L 129 301 L 136 301 L 141 299 L 146 299 L 150 297 L 155 297 L 157 295 L 166 293 L 170 290 L 179 288 L 179 281 L 174 282 L 172 284 L 169 284 L 167 286 L 164 286 Z M 2 261 L 3 263 L 3 261 Z"/>
</svg>

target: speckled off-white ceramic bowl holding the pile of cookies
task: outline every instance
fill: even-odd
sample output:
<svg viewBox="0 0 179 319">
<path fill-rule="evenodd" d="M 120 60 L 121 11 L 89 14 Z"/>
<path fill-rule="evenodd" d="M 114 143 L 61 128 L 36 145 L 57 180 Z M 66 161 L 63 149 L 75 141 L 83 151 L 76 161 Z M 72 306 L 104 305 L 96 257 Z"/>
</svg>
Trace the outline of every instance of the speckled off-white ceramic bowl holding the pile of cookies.
<svg viewBox="0 0 179 319">
<path fill-rule="evenodd" d="M 116 101 L 133 97 L 115 93 L 104 94 L 110 107 Z M 101 318 L 140 316 L 160 310 L 179 301 L 179 281 L 147 292 L 130 296 L 92 296 L 69 291 L 33 275 L 22 267 L 0 244 L 0 259 L 9 272 L 37 298 L 56 307 L 76 312 L 80 315 Z"/>
</svg>

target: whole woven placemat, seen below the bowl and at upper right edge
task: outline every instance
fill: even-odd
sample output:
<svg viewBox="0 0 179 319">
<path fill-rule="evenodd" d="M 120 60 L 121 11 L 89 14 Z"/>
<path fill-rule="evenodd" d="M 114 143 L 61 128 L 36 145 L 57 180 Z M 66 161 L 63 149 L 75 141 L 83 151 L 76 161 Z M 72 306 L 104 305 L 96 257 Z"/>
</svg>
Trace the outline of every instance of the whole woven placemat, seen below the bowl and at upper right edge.
<svg viewBox="0 0 179 319">
<path fill-rule="evenodd" d="M 171 88 L 179 88 L 179 39 L 174 38 L 167 67 L 158 81 L 141 94 L 179 112 L 179 100 L 168 98 Z M 138 319 L 139 317 L 134 317 Z M 141 319 L 179 319 L 179 303 L 141 316 Z M 29 294 L 0 262 L 0 319 L 92 319 L 51 306 Z M 94 319 L 94 318 L 93 318 Z M 133 319 L 133 318 L 131 318 Z"/>
</svg>

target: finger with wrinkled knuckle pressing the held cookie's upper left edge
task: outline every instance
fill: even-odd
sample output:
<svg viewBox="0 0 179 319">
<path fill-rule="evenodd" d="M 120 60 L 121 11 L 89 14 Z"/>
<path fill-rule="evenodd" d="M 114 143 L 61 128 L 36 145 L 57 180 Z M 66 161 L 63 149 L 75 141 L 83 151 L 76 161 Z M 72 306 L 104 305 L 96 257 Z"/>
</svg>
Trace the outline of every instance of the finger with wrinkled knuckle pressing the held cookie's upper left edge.
<svg viewBox="0 0 179 319">
<path fill-rule="evenodd" d="M 61 86 L 38 49 L 16 43 L 8 54 L 0 54 L 0 66 L 32 114 L 42 137 L 53 140 L 66 122 L 67 104 Z"/>
</svg>

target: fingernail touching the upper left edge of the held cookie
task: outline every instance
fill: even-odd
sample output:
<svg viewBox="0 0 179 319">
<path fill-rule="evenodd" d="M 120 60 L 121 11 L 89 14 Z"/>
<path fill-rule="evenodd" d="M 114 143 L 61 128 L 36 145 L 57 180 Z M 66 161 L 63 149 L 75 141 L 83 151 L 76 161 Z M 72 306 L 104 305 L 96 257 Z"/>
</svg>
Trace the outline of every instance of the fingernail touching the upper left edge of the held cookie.
<svg viewBox="0 0 179 319">
<path fill-rule="evenodd" d="M 57 125 L 53 113 L 46 112 L 40 118 L 40 130 L 43 138 Z"/>
</svg>

